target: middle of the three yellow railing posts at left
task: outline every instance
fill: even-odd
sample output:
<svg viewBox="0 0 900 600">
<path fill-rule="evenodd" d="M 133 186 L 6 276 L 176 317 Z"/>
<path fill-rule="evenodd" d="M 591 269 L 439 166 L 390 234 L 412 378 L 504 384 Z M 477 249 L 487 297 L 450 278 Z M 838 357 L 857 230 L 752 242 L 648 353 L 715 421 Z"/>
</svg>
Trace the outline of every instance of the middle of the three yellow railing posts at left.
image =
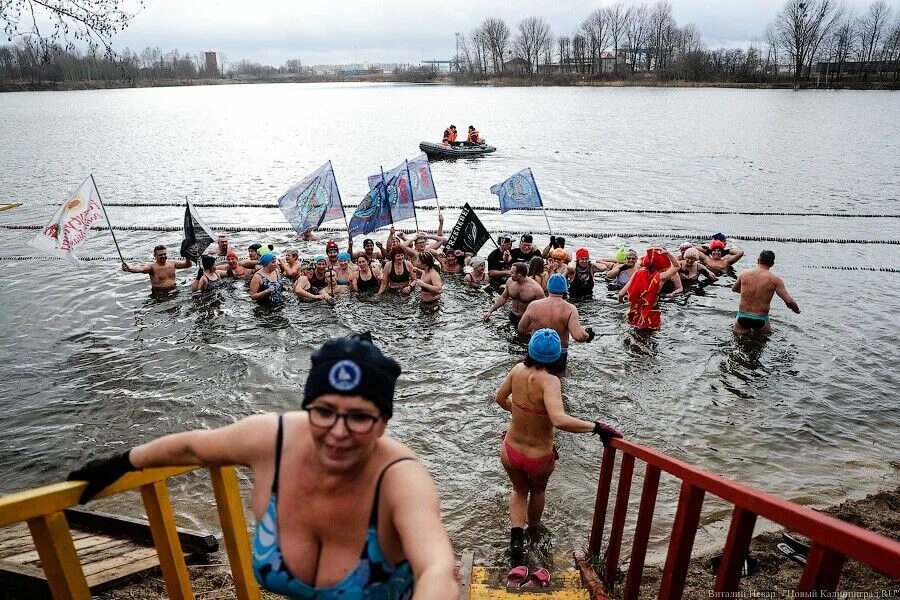
<svg viewBox="0 0 900 600">
<path fill-rule="evenodd" d="M 187 565 L 184 564 L 184 552 L 178 541 L 178 530 L 175 527 L 175 515 L 169 502 L 169 489 L 165 481 L 157 481 L 141 486 L 141 498 L 150 521 L 150 532 L 153 544 L 159 555 L 159 566 L 162 568 L 166 591 L 172 600 L 193 600 L 191 580 Z"/>
</svg>

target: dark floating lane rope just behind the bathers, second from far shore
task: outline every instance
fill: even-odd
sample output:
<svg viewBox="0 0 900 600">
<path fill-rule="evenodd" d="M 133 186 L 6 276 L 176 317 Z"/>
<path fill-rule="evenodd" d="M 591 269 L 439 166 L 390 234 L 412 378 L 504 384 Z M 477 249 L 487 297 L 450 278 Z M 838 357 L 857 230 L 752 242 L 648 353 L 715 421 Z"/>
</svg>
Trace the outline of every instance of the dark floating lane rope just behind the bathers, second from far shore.
<svg viewBox="0 0 900 600">
<path fill-rule="evenodd" d="M 32 225 L 32 224 L 0 224 L 0 229 L 12 229 L 12 230 L 38 230 L 43 229 L 43 225 Z M 98 225 L 93 227 L 95 230 L 107 230 L 109 227 L 106 225 Z M 267 232 L 282 232 L 282 231 L 294 231 L 293 227 L 288 225 L 272 225 L 268 227 L 248 227 L 245 225 L 216 225 L 210 226 L 210 229 L 216 231 L 225 231 L 228 233 L 240 233 L 242 231 L 252 231 L 256 233 L 267 233 Z M 381 227 L 380 230 L 384 230 L 386 228 Z M 172 225 L 116 225 L 117 231 L 159 231 L 159 232 L 181 232 L 184 231 L 183 227 L 176 227 Z M 327 233 L 347 233 L 346 229 L 340 229 L 337 227 L 320 227 L 316 231 L 322 231 Z M 397 229 L 396 231 L 400 231 L 402 233 L 416 233 L 415 229 Z M 434 229 L 420 229 L 420 233 L 436 233 Z M 516 229 L 497 229 L 492 230 L 489 233 L 498 234 L 498 233 L 509 233 L 511 235 L 522 235 L 525 233 L 532 235 L 550 235 L 549 232 L 546 231 L 538 231 L 536 229 L 528 229 L 528 230 L 516 230 Z M 656 238 L 656 239 L 694 239 L 694 240 L 708 240 L 712 236 L 710 233 L 690 233 L 684 231 L 654 231 L 654 232 L 643 232 L 643 233 L 629 233 L 623 231 L 610 231 L 610 232 L 600 232 L 600 233 L 590 233 L 590 232 L 578 232 L 578 231 L 557 231 L 554 235 L 565 238 L 590 238 L 590 239 L 608 239 L 608 238 Z M 771 235 L 742 235 L 742 234 L 730 234 L 728 236 L 729 239 L 733 240 L 742 240 L 746 242 L 785 242 L 785 243 L 798 243 L 798 244 L 889 244 L 889 245 L 900 245 L 900 240 L 860 240 L 860 239 L 848 239 L 848 238 L 801 238 L 801 237 L 780 237 L 780 236 L 771 236 Z"/>
</svg>

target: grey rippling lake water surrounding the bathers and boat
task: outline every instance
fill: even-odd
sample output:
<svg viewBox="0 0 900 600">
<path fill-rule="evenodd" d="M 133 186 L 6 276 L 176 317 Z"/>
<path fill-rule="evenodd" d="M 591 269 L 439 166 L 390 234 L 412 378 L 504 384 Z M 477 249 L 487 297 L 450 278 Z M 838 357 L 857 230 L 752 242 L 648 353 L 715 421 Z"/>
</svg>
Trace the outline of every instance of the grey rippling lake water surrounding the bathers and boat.
<svg viewBox="0 0 900 600">
<path fill-rule="evenodd" d="M 345 204 L 365 178 L 418 154 L 450 122 L 474 123 L 498 151 L 435 162 L 443 206 L 496 202 L 488 188 L 531 167 L 556 208 L 900 214 L 900 96 L 890 92 L 644 88 L 454 88 L 406 85 L 258 85 L 0 95 L 3 224 L 44 224 L 93 173 L 107 202 L 274 203 L 332 160 Z M 425 203 L 434 206 L 433 201 Z M 270 209 L 202 208 L 217 225 L 285 225 Z M 448 228 L 458 210 L 445 208 Z M 109 209 L 113 225 L 178 226 L 183 209 Z M 484 211 L 489 229 L 533 230 L 540 213 Z M 896 218 L 711 214 L 549 213 L 555 231 L 644 233 L 568 239 L 610 255 L 677 247 L 677 232 L 856 238 L 898 237 Z M 420 213 L 422 228 L 436 225 Z M 412 227 L 412 223 L 409 223 Z M 0 255 L 33 255 L 32 231 L 0 229 Z M 659 235 L 659 234 L 661 235 Z M 150 260 L 178 233 L 122 231 L 128 257 Z M 317 253 L 288 233 L 231 236 Z M 338 239 L 345 239 L 338 235 Z M 896 314 L 900 275 L 822 266 L 900 267 L 900 246 L 758 243 L 799 302 L 776 300 L 765 344 L 737 342 L 731 278 L 663 308 L 663 328 L 635 336 L 613 293 L 579 303 L 597 339 L 570 352 L 571 413 L 619 426 L 640 444 L 782 497 L 827 505 L 895 485 L 900 456 Z M 343 242 L 341 242 L 343 244 Z M 485 252 L 487 248 L 485 249 Z M 107 232 L 84 255 L 111 257 Z M 393 435 L 433 473 L 457 548 L 488 563 L 507 543 L 509 484 L 499 459 L 507 415 L 493 401 L 524 353 L 492 298 L 449 278 L 437 314 L 413 300 L 342 298 L 336 306 L 261 311 L 242 286 L 221 303 L 148 298 L 144 276 L 114 261 L 73 269 L 60 261 L 0 261 L 0 476 L 2 489 L 35 486 L 98 453 L 165 433 L 215 427 L 299 405 L 313 349 L 331 336 L 371 330 L 397 357 Z M 181 287 L 193 273 L 185 271 Z M 601 447 L 561 433 L 545 523 L 560 555 L 586 544 Z M 635 494 L 642 469 L 636 473 Z M 183 524 L 215 522 L 203 477 L 172 485 Z M 664 478 L 665 482 L 665 478 Z M 247 481 L 244 480 L 246 485 Z M 665 483 L 654 522 L 664 540 L 677 487 Z M 103 506 L 129 514 L 137 496 Z M 112 503 L 112 504 L 111 504 Z M 98 503 L 99 504 L 99 503 Z M 724 543 L 722 505 L 707 502 L 706 539 Z"/>
</svg>

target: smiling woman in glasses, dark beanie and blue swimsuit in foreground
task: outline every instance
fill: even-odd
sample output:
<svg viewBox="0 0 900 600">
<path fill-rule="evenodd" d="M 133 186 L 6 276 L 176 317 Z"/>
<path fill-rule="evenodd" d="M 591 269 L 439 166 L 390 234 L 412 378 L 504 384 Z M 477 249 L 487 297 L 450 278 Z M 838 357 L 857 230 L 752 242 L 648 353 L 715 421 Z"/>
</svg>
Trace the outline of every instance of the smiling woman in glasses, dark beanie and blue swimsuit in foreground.
<svg viewBox="0 0 900 600">
<path fill-rule="evenodd" d="M 294 599 L 455 599 L 437 488 L 385 435 L 400 366 L 368 334 L 312 356 L 302 411 L 168 435 L 72 472 L 86 502 L 128 471 L 248 466 L 260 585 Z"/>
</svg>

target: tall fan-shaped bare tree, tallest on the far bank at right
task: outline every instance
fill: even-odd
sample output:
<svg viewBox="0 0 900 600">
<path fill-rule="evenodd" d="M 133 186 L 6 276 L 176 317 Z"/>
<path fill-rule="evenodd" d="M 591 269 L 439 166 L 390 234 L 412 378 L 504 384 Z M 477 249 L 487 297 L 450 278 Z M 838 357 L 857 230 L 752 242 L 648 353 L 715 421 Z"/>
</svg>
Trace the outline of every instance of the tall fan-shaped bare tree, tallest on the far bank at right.
<svg viewBox="0 0 900 600">
<path fill-rule="evenodd" d="M 794 65 L 794 87 L 800 86 L 804 68 L 815 56 L 822 39 L 840 16 L 836 0 L 786 0 L 775 18 L 779 44 Z"/>
</svg>

